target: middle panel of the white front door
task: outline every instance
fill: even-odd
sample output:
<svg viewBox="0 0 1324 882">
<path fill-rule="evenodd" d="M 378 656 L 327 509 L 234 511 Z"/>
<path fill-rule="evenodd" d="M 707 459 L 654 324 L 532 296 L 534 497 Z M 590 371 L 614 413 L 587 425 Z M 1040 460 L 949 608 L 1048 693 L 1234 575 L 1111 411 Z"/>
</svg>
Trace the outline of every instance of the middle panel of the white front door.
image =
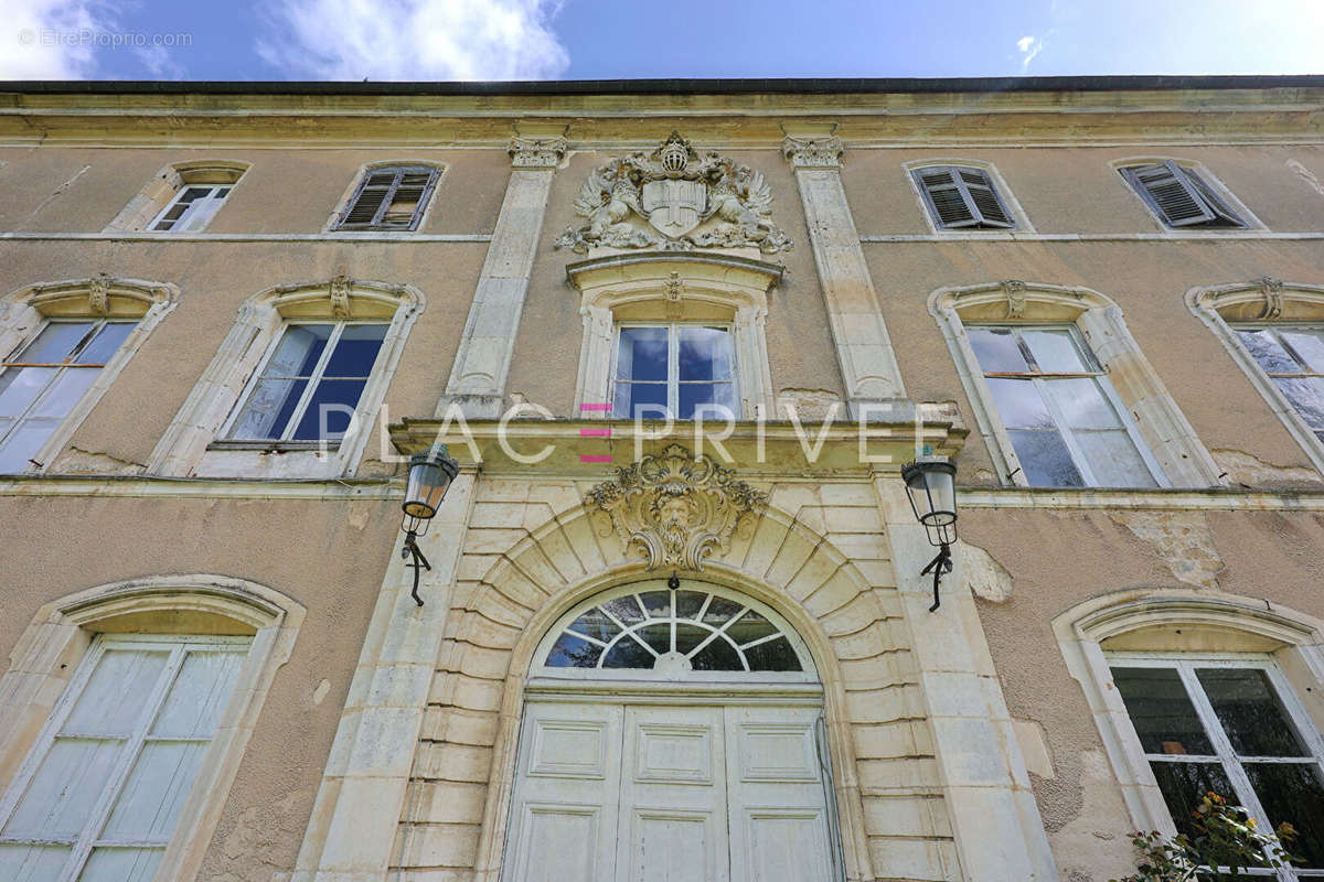
<svg viewBox="0 0 1324 882">
<path fill-rule="evenodd" d="M 727 882 L 722 729 L 720 707 L 625 709 L 622 881 Z"/>
</svg>

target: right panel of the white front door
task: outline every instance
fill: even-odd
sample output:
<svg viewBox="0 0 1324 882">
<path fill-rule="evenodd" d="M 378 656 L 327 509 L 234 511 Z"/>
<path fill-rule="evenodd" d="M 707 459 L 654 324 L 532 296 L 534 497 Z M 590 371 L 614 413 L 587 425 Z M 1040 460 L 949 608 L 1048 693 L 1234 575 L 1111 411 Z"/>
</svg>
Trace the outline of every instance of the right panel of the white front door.
<svg viewBox="0 0 1324 882">
<path fill-rule="evenodd" d="M 817 707 L 727 707 L 731 882 L 833 879 Z"/>
</svg>

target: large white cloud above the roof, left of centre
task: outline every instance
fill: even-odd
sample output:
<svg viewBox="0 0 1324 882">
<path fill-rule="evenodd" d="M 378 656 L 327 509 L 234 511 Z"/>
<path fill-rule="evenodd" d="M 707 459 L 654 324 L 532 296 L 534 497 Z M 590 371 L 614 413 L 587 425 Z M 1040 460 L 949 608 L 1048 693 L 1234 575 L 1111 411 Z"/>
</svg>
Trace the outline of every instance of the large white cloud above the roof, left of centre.
<svg viewBox="0 0 1324 882">
<path fill-rule="evenodd" d="M 547 79 L 569 66 L 549 0 L 278 0 L 258 54 L 314 79 Z"/>
</svg>

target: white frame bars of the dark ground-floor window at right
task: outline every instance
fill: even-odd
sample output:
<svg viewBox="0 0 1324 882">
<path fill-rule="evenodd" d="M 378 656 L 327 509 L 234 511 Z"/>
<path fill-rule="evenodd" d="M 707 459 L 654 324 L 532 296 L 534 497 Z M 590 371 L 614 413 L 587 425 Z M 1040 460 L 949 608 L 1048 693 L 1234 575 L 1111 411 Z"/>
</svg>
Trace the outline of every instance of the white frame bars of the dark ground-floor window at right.
<svg viewBox="0 0 1324 882">
<path fill-rule="evenodd" d="M 1320 771 L 1320 778 L 1324 780 L 1324 735 L 1316 729 L 1315 722 L 1311 719 L 1309 711 L 1301 703 L 1301 700 L 1296 696 L 1292 684 L 1288 681 L 1286 674 L 1278 662 L 1264 653 L 1247 653 L 1247 652 L 1164 652 L 1164 651 L 1151 651 L 1151 652 L 1135 652 L 1135 651 L 1106 651 L 1104 660 L 1108 665 L 1110 682 L 1112 668 L 1165 668 L 1176 669 L 1181 678 L 1182 686 L 1190 698 L 1192 706 L 1200 718 L 1201 726 L 1205 729 L 1205 734 L 1209 737 L 1210 744 L 1214 748 L 1214 754 L 1207 755 L 1213 758 L 1218 766 L 1223 770 L 1227 780 L 1233 785 L 1233 793 L 1226 793 L 1230 800 L 1237 800 L 1237 804 L 1247 809 L 1251 817 L 1263 821 L 1263 832 L 1272 834 L 1271 824 L 1268 822 L 1268 815 L 1259 803 L 1259 797 L 1255 795 L 1255 788 L 1247 778 L 1242 756 L 1237 754 L 1235 747 L 1227 738 L 1227 733 L 1223 730 L 1213 705 L 1209 701 L 1209 696 L 1205 692 L 1204 685 L 1196 677 L 1197 668 L 1237 668 L 1237 669 L 1253 669 L 1263 670 L 1268 677 L 1268 681 L 1282 702 L 1283 710 L 1287 714 L 1288 723 L 1295 727 L 1298 737 L 1305 744 L 1309 751 L 1309 758 L 1283 758 L 1283 756 L 1255 756 L 1247 758 L 1256 763 L 1283 763 L 1295 766 L 1308 766 L 1311 759 L 1315 767 Z M 1120 701 L 1120 697 L 1119 697 Z M 1135 731 L 1135 723 L 1131 722 L 1129 710 L 1127 710 L 1127 723 L 1131 726 L 1131 734 L 1139 742 L 1139 734 Z M 1193 762 L 1190 759 L 1181 760 L 1166 754 L 1148 754 L 1144 747 L 1140 747 L 1141 756 L 1145 763 L 1152 762 Z M 1188 756 L 1188 755 L 1182 755 Z M 1201 759 L 1206 759 L 1206 755 L 1198 755 Z M 1213 764 L 1213 763 L 1210 763 Z M 1152 772 L 1151 772 L 1152 776 Z M 1164 801 L 1166 808 L 1166 801 Z M 1172 821 L 1172 811 L 1168 809 L 1169 821 Z M 1176 822 L 1173 822 L 1176 828 Z M 1272 870 L 1258 870 L 1249 873 L 1249 875 L 1259 877 L 1276 877 L 1280 882 L 1295 882 L 1296 879 L 1317 879 L 1324 878 L 1324 866 L 1320 867 L 1283 867 L 1278 871 Z"/>
</svg>

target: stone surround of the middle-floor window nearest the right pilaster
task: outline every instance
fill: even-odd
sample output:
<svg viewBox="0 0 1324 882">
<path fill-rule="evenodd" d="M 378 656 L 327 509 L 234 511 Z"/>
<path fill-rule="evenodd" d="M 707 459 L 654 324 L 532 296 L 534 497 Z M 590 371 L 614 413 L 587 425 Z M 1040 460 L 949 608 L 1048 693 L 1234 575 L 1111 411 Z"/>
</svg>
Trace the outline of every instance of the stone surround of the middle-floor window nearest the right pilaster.
<svg viewBox="0 0 1324 882">
<path fill-rule="evenodd" d="M 1140 352 L 1121 308 L 1107 296 L 1082 287 L 1006 280 L 939 288 L 929 295 L 928 311 L 943 331 L 974 422 L 1004 485 L 1029 487 L 1029 481 L 978 369 L 963 319 L 990 324 L 1075 324 L 1158 461 L 1160 487 L 1219 485 L 1222 469 Z"/>
</svg>

